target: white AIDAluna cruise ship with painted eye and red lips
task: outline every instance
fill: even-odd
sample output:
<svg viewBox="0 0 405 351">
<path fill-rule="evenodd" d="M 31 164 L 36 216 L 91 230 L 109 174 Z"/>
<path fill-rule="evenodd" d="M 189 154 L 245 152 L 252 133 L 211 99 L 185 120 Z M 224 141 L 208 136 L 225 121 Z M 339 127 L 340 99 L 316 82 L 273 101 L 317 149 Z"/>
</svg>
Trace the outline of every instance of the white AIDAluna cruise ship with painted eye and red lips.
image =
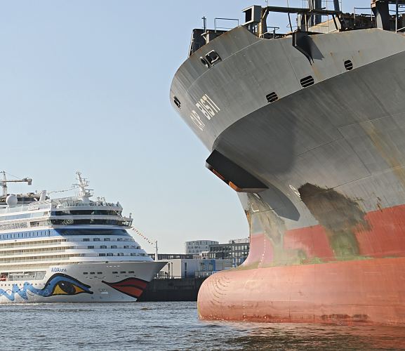
<svg viewBox="0 0 405 351">
<path fill-rule="evenodd" d="M 76 197 L 0 197 L 0 303 L 136 301 L 166 263 L 154 262 L 129 234 L 119 202 L 92 200 L 77 172 Z"/>
</svg>

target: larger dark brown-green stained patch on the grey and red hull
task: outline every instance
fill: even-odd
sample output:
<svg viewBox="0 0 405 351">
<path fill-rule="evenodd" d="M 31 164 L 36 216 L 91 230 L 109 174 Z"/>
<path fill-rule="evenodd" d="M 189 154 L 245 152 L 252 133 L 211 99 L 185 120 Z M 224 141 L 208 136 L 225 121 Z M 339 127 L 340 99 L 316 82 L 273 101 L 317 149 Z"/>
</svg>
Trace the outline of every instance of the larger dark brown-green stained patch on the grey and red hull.
<svg viewBox="0 0 405 351">
<path fill-rule="evenodd" d="M 306 183 L 298 189 L 310 213 L 325 228 L 336 258 L 359 255 L 356 230 L 369 230 L 366 213 L 357 201 L 336 190 Z"/>
</svg>

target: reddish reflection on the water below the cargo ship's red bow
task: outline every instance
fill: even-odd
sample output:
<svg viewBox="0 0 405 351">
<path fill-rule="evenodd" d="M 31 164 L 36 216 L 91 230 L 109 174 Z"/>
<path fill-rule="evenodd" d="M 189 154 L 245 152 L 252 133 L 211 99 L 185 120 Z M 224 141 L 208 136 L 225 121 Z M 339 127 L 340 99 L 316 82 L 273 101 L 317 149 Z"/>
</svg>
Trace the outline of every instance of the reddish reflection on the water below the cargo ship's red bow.
<svg viewBox="0 0 405 351">
<path fill-rule="evenodd" d="M 230 348 L 239 350 L 405 350 L 405 327 L 244 322 L 215 324 L 234 330 L 237 335 L 224 342 Z"/>
</svg>

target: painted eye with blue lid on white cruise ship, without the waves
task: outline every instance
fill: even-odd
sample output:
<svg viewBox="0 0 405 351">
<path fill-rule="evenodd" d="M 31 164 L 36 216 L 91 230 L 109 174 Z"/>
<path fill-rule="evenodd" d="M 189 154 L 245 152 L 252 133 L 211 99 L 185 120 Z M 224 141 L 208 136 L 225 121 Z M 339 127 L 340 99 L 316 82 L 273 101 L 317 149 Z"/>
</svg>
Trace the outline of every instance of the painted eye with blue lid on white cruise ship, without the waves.
<svg viewBox="0 0 405 351">
<path fill-rule="evenodd" d="M 56 295 L 77 295 L 78 293 L 90 293 L 90 286 L 79 280 L 70 277 L 67 274 L 53 274 L 46 282 L 41 295 L 56 296 Z"/>
</svg>

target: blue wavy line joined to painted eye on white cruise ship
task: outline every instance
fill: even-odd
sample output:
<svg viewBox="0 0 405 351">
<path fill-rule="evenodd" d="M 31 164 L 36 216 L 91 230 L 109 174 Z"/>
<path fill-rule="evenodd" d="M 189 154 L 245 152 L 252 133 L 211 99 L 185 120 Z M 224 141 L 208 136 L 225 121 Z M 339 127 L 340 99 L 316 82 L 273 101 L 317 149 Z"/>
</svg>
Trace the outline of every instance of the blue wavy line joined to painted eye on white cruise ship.
<svg viewBox="0 0 405 351">
<path fill-rule="evenodd" d="M 24 300 L 28 300 L 27 291 L 30 291 L 34 295 L 43 296 L 48 298 L 50 296 L 57 295 L 77 295 L 79 293 L 90 293 L 91 286 L 86 285 L 79 280 L 70 277 L 67 274 L 53 274 L 52 277 L 48 279 L 43 289 L 36 289 L 32 283 L 25 282 L 22 287 L 18 284 L 13 284 L 11 289 L 0 289 L 0 296 L 8 298 L 8 300 L 14 301 L 15 296 L 18 295 Z"/>
</svg>

